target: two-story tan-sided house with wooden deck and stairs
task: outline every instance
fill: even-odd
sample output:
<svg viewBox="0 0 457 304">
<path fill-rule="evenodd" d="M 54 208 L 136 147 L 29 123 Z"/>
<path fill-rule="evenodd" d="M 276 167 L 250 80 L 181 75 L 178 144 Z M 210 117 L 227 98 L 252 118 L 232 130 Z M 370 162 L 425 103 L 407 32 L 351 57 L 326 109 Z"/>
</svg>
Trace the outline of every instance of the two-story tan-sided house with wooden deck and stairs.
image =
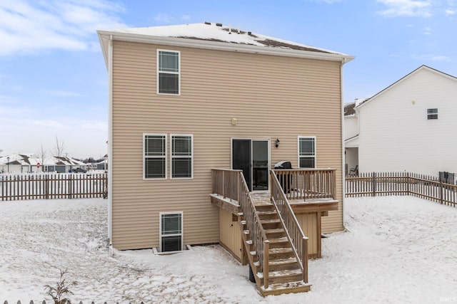
<svg viewBox="0 0 457 304">
<path fill-rule="evenodd" d="M 273 268 L 268 278 L 270 256 L 254 236 L 268 243 L 286 218 L 306 231 L 308 216 L 318 257 L 320 233 L 343 230 L 342 70 L 352 56 L 220 23 L 98 33 L 109 75 L 114 248 L 221 243 L 251 265 L 265 295 L 285 280 Z M 275 170 L 280 161 L 293 169 Z M 286 209 L 256 210 L 262 197 Z M 301 268 L 295 281 L 309 290 L 307 261 L 291 254 Z"/>
</svg>

